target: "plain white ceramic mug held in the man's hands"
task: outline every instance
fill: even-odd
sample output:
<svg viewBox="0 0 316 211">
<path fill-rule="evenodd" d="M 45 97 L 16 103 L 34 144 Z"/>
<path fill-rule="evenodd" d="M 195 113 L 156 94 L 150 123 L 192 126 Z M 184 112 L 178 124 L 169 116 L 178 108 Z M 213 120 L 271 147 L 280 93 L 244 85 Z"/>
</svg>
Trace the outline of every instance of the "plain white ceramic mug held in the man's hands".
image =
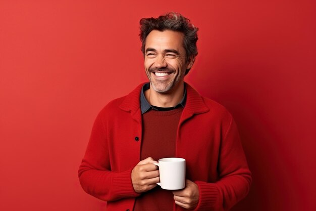
<svg viewBox="0 0 316 211">
<path fill-rule="evenodd" d="M 178 157 L 169 157 L 159 159 L 160 185 L 166 190 L 179 190 L 185 187 L 185 159 Z"/>
</svg>

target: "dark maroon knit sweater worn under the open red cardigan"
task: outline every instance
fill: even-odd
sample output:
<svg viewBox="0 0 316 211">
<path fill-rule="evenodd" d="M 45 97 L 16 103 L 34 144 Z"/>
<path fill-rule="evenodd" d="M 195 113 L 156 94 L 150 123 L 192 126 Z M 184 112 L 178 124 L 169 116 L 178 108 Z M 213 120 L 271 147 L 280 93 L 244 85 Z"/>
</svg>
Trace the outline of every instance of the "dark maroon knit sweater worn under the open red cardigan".
<svg viewBox="0 0 316 211">
<path fill-rule="evenodd" d="M 149 110 L 142 115 L 141 160 L 152 157 L 158 161 L 165 157 L 175 157 L 177 128 L 182 110 L 180 106 L 170 111 Z M 134 211 L 172 211 L 173 204 L 172 191 L 157 186 L 136 198 Z"/>
</svg>

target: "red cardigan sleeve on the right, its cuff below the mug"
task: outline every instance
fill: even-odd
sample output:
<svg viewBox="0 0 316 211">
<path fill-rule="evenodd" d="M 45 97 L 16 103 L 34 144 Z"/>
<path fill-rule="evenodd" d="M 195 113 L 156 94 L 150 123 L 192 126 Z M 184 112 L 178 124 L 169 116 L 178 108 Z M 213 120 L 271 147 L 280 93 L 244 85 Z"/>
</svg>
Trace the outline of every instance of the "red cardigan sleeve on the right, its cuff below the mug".
<svg viewBox="0 0 316 211">
<path fill-rule="evenodd" d="M 221 142 L 218 174 L 216 183 L 195 181 L 200 195 L 195 210 L 229 210 L 249 192 L 251 173 L 231 116 L 229 128 Z"/>
</svg>

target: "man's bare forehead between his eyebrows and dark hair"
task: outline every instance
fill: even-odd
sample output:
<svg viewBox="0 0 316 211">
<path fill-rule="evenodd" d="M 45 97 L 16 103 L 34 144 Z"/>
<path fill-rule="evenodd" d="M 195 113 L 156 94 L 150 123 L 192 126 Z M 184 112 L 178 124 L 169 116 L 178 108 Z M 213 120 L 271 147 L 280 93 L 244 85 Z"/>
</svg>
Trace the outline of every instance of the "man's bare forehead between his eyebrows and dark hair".
<svg viewBox="0 0 316 211">
<path fill-rule="evenodd" d="M 146 37 L 145 50 L 147 48 L 153 48 L 157 51 L 163 51 L 165 49 L 183 51 L 183 38 L 184 34 L 182 32 L 152 30 Z"/>
</svg>

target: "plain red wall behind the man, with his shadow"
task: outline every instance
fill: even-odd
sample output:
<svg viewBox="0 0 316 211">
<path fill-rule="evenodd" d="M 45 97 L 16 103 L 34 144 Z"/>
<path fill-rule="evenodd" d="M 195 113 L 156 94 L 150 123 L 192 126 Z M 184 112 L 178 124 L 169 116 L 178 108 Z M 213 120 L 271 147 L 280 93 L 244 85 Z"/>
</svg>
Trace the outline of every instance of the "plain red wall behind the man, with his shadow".
<svg viewBox="0 0 316 211">
<path fill-rule="evenodd" d="M 140 18 L 168 11 L 199 27 L 186 81 L 239 126 L 253 184 L 234 210 L 315 210 L 312 2 L 1 1 L 0 210 L 104 210 L 78 166 L 98 111 L 146 81 Z"/>
</svg>

